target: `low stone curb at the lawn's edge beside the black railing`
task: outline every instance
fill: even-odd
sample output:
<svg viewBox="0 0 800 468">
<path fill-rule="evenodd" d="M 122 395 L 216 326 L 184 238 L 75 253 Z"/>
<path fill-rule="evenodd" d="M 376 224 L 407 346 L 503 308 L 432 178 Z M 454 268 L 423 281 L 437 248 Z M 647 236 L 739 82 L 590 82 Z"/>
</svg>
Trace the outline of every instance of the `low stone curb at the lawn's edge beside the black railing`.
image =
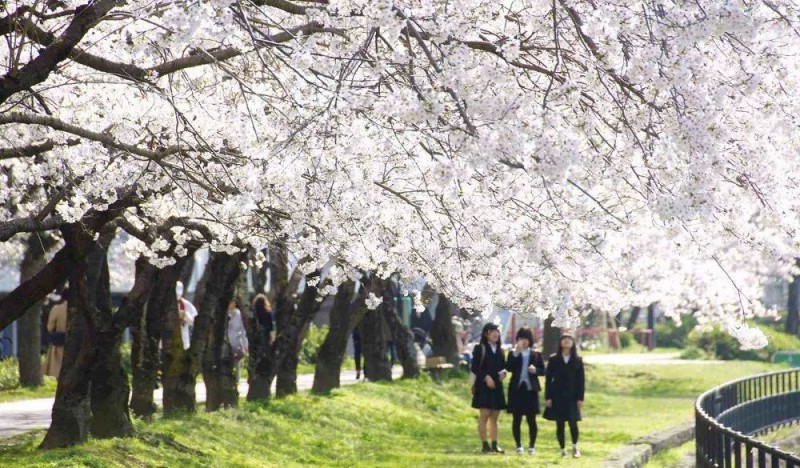
<svg viewBox="0 0 800 468">
<path fill-rule="evenodd" d="M 648 434 L 612 453 L 606 468 L 639 468 L 658 452 L 677 447 L 694 438 L 694 421 L 687 421 L 663 431 Z"/>
</svg>

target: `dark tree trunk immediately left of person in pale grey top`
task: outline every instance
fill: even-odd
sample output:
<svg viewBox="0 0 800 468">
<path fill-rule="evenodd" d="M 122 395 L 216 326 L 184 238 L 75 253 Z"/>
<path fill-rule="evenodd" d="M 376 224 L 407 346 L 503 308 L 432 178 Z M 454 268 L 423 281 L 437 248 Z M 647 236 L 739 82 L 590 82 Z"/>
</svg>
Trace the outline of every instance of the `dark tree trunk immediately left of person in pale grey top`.
<svg viewBox="0 0 800 468">
<path fill-rule="evenodd" d="M 214 281 L 206 284 L 198 318 L 209 318 L 208 340 L 203 353 L 203 382 L 206 385 L 206 410 L 239 404 L 238 379 L 233 353 L 227 339 L 228 303 L 233 299 L 241 273 L 242 255 L 224 252 L 211 254 L 206 266 Z M 195 331 L 197 332 L 197 331 Z M 193 343 L 194 344 L 194 343 Z"/>
</svg>

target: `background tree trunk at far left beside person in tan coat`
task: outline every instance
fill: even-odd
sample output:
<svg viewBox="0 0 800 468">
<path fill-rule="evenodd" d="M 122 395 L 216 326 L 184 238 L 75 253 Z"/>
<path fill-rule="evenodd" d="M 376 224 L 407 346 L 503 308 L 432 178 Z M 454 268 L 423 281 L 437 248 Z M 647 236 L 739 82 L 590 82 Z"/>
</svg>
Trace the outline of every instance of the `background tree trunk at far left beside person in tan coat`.
<svg viewBox="0 0 800 468">
<path fill-rule="evenodd" d="M 47 264 L 45 251 L 55 244 L 49 234 L 28 236 L 28 248 L 20 265 L 20 281 L 33 277 Z M 19 343 L 19 383 L 24 387 L 38 387 L 44 383 L 42 377 L 42 304 L 40 300 L 17 321 Z"/>
</svg>

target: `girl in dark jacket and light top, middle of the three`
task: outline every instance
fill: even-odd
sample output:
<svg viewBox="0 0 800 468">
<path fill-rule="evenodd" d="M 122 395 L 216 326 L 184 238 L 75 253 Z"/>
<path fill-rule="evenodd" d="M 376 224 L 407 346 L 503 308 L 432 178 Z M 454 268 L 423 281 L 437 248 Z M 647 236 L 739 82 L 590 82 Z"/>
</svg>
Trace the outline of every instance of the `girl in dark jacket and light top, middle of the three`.
<svg viewBox="0 0 800 468">
<path fill-rule="evenodd" d="M 517 443 L 517 453 L 523 453 L 520 440 L 522 416 L 528 421 L 528 453 L 536 453 L 536 415 L 539 414 L 539 376 L 544 375 L 542 354 L 533 350 L 533 332 L 528 327 L 517 331 L 517 346 L 508 355 L 506 369 L 511 372 L 508 385 L 508 412 L 513 415 L 511 432 Z"/>
</svg>

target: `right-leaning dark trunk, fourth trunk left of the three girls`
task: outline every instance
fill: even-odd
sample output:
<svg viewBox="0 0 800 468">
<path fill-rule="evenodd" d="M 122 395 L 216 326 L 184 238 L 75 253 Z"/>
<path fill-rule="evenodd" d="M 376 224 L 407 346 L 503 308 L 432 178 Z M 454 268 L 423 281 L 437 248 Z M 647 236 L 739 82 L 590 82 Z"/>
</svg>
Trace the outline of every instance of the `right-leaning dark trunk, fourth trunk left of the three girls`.
<svg viewBox="0 0 800 468">
<path fill-rule="evenodd" d="M 353 332 L 355 316 L 358 315 L 358 305 L 351 301 L 353 287 L 353 282 L 348 281 L 339 285 L 336 291 L 328 335 L 317 351 L 317 366 L 311 387 L 314 393 L 328 393 L 339 388 L 347 340 Z"/>
</svg>

